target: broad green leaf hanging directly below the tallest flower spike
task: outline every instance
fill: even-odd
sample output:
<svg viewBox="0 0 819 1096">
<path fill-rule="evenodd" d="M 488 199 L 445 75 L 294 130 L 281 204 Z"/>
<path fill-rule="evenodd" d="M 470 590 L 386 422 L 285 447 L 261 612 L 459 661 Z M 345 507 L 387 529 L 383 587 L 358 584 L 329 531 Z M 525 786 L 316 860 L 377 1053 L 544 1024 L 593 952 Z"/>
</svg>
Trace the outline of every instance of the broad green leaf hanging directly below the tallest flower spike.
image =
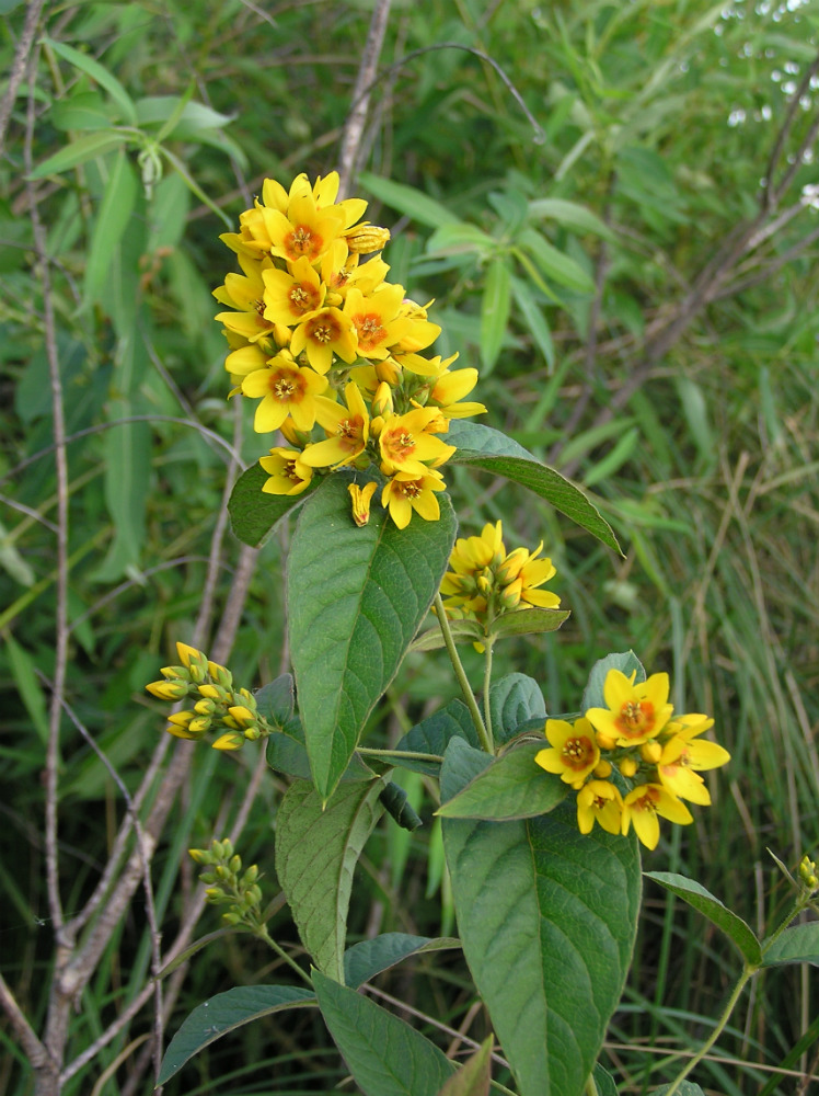
<svg viewBox="0 0 819 1096">
<path fill-rule="evenodd" d="M 356 526 L 342 472 L 301 511 L 287 561 L 287 605 L 299 709 L 319 792 L 328 797 L 367 718 L 426 617 L 455 537 L 448 496 L 440 520 L 399 529 L 373 506 Z"/>
</svg>

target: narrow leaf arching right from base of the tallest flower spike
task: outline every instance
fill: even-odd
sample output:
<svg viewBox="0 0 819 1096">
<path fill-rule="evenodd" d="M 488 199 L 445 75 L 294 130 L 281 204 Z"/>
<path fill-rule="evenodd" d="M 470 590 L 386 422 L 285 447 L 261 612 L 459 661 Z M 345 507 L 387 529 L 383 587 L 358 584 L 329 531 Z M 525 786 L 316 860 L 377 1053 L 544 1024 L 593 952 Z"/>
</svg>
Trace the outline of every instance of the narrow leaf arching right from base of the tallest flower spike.
<svg viewBox="0 0 819 1096">
<path fill-rule="evenodd" d="M 611 526 L 600 516 L 599 511 L 592 506 L 582 491 L 564 479 L 554 468 L 542 465 L 522 445 L 518 445 L 491 426 L 459 420 L 450 422 L 447 441 L 458 447 L 449 458 L 450 464 L 481 468 L 520 483 L 541 499 L 545 499 L 580 528 L 622 555 Z"/>
</svg>

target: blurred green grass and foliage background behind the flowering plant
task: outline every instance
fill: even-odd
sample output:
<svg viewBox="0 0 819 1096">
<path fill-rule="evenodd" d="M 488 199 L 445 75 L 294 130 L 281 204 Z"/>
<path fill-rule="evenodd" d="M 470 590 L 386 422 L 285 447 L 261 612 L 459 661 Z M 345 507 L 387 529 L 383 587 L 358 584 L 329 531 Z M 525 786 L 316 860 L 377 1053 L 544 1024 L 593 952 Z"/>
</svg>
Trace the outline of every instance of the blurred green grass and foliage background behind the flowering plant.
<svg viewBox="0 0 819 1096">
<path fill-rule="evenodd" d="M 226 401 L 210 292 L 235 269 L 218 235 L 265 176 L 337 167 L 373 2 L 0 11 L 0 954 L 42 1031 L 43 774 L 60 660 L 68 917 L 155 757 L 163 718 L 142 686 L 175 661 L 174 641 L 221 643 L 254 687 L 288 666 L 288 532 L 252 553 L 224 528 L 226 483 L 266 443 Z M 760 932 L 787 895 L 766 849 L 793 866 L 819 840 L 818 42 L 806 0 L 393 0 L 350 184 L 393 232 L 391 281 L 435 298 L 436 350 L 481 369 L 484 421 L 587 489 L 623 545 L 618 559 L 522 491 L 457 470 L 463 534 L 503 518 L 509 547 L 543 538 L 572 609 L 554 636 L 498 650 L 498 672 L 531 674 L 550 711 L 567 711 L 592 661 L 631 647 L 671 674 L 676 705 L 713 712 L 734 756 L 714 806 L 646 861 L 697 878 Z M 412 655 L 371 744 L 453 694 L 442 654 Z M 280 787 L 256 762 L 251 749 L 189 762 L 153 860 L 165 945 L 218 927 L 209 911 L 197 925 L 184 849 L 238 814 L 243 859 L 276 892 Z M 168 757 L 157 766 L 146 811 Z M 420 778 L 407 787 L 427 824 L 410 837 L 384 823 L 368 846 L 361 934 L 453 929 L 435 803 Z M 274 928 L 296 939 L 284 916 Z M 137 890 L 71 1013 L 67 1064 L 143 991 L 151 950 Z M 670 1076 L 737 969 L 704 922 L 648 889 L 603 1055 L 623 1092 Z M 403 970 L 378 984 L 429 1016 L 425 1030 L 481 1038 L 462 961 L 415 970 L 412 984 Z M 268 955 L 235 936 L 183 973 L 169 1035 L 214 993 L 273 980 Z M 703 1087 L 808 1092 L 818 997 L 800 968 L 760 981 Z M 151 1008 L 64 1091 L 150 1092 Z M 14 1030 L 0 1039 L 0 1092 L 32 1092 Z M 165 1091 L 349 1092 L 344 1075 L 304 1011 L 217 1042 Z"/>
</svg>

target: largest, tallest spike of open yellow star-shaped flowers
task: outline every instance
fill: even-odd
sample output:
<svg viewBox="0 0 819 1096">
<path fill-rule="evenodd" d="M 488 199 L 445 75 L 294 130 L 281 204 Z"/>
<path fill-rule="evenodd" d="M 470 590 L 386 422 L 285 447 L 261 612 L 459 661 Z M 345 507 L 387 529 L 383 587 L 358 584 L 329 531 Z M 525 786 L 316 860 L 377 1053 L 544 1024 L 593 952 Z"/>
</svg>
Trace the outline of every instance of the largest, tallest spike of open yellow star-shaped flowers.
<svg viewBox="0 0 819 1096">
<path fill-rule="evenodd" d="M 228 309 L 217 316 L 231 347 L 226 368 L 233 392 L 259 401 L 254 429 L 280 430 L 288 443 L 261 458 L 263 491 L 296 495 L 316 471 L 374 466 L 400 528 L 413 512 L 436 521 L 438 469 L 454 453 L 436 435 L 451 418 L 486 410 L 462 402 L 477 370 L 451 370 L 458 355 L 420 353 L 440 328 L 385 281 L 390 233 L 360 219 L 367 203 L 337 195 L 336 172 L 312 186 L 301 174 L 289 192 L 267 179 L 239 232 L 221 237 L 243 271 L 214 290 Z M 316 425 L 323 439 L 313 439 Z M 369 496 L 354 510 L 358 524 Z"/>
</svg>

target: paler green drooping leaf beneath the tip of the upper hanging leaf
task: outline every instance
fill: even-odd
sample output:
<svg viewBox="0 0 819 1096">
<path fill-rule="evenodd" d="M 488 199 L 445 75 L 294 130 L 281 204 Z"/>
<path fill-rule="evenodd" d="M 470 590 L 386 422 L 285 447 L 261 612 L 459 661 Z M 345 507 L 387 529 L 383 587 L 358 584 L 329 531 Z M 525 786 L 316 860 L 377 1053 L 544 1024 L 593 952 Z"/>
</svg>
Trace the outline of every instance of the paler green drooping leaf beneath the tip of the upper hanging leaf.
<svg viewBox="0 0 819 1096">
<path fill-rule="evenodd" d="M 353 872 L 381 817 L 381 777 L 342 784 L 324 802 L 311 784 L 288 788 L 276 815 L 276 875 L 319 970 L 344 980 Z"/>
</svg>

